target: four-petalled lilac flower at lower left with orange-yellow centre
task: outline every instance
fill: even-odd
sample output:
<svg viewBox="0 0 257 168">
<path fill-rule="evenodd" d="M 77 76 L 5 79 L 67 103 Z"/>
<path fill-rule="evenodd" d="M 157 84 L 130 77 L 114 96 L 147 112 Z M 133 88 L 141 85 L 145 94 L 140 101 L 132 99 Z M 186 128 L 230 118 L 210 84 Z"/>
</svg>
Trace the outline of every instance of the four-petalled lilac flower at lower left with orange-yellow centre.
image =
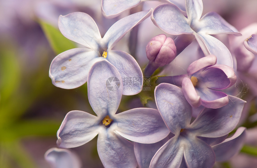
<svg viewBox="0 0 257 168">
<path fill-rule="evenodd" d="M 116 79 L 112 86 L 116 84 L 117 90 L 106 86 L 110 78 Z M 77 110 L 68 112 L 57 132 L 59 147 L 78 147 L 98 135 L 97 151 L 105 167 L 136 167 L 134 144 L 127 139 L 149 144 L 169 134 L 156 109 L 135 108 L 115 114 L 123 92 L 121 80 L 108 61 L 93 64 L 88 75 L 88 99 L 97 116 Z"/>
</svg>

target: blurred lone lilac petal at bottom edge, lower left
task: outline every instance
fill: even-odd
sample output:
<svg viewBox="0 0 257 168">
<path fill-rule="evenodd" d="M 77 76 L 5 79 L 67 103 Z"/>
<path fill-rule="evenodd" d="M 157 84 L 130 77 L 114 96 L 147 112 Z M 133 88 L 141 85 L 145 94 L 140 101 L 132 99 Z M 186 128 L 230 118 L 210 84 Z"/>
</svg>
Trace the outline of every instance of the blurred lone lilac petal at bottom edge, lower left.
<svg viewBox="0 0 257 168">
<path fill-rule="evenodd" d="M 68 149 L 51 148 L 45 152 L 45 160 L 52 168 L 80 168 L 79 157 Z"/>
</svg>

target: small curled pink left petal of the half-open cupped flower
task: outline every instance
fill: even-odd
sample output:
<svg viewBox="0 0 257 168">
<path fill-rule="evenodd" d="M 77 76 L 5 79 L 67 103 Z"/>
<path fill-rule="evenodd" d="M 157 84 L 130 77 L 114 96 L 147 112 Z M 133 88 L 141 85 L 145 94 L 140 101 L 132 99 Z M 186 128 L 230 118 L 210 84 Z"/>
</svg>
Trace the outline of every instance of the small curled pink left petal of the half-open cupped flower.
<svg viewBox="0 0 257 168">
<path fill-rule="evenodd" d="M 182 90 L 186 100 L 192 107 L 199 107 L 201 105 L 200 96 L 197 94 L 192 81 L 189 78 L 182 80 Z"/>
</svg>

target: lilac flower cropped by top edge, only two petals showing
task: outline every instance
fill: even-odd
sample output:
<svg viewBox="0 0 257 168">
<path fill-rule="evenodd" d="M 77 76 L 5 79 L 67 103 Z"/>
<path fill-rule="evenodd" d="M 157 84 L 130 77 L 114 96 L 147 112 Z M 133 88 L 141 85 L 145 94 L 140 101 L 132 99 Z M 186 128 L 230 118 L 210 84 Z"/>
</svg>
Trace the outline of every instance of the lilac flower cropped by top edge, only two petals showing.
<svg viewBox="0 0 257 168">
<path fill-rule="evenodd" d="M 106 18 L 114 18 L 119 16 L 121 12 L 136 7 L 141 1 L 147 0 L 102 0 L 102 13 Z M 157 1 L 157 0 L 152 0 Z M 180 9 L 185 10 L 184 0 L 162 0 L 163 2 L 172 2 Z"/>
</svg>

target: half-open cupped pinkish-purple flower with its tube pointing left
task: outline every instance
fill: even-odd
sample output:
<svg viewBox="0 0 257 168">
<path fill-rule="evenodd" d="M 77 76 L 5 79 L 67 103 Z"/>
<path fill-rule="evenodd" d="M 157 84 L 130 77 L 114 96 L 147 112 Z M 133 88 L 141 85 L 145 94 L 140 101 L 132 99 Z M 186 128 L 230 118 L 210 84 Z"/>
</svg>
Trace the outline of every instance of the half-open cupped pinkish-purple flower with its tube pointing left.
<svg viewBox="0 0 257 168">
<path fill-rule="evenodd" d="M 237 78 L 231 67 L 216 62 L 217 58 L 209 55 L 190 64 L 187 74 L 164 76 L 158 80 L 182 86 L 186 100 L 192 107 L 203 105 L 220 108 L 228 104 L 229 97 L 218 90 L 231 87 Z"/>
</svg>

